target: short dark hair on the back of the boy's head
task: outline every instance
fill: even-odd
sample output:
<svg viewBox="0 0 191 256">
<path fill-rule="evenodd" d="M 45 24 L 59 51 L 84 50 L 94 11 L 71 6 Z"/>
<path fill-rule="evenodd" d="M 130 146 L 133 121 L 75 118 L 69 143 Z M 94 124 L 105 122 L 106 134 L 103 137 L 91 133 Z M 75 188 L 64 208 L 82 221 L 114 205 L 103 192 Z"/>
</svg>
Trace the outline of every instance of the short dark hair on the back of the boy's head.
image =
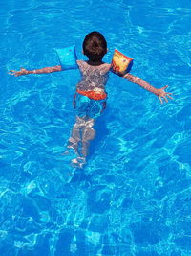
<svg viewBox="0 0 191 256">
<path fill-rule="evenodd" d="M 91 32 L 83 41 L 83 52 L 91 61 L 101 61 L 107 53 L 107 42 L 99 32 Z"/>
</svg>

